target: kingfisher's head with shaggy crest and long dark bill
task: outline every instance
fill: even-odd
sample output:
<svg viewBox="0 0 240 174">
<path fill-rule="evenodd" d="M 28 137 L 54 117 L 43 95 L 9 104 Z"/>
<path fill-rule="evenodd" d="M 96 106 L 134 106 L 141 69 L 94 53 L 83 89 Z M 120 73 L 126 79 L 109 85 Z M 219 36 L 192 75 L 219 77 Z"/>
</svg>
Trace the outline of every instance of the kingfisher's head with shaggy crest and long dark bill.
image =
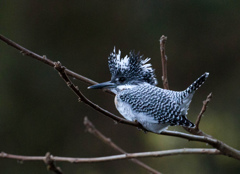
<svg viewBox="0 0 240 174">
<path fill-rule="evenodd" d="M 136 85 L 148 83 L 156 85 L 154 69 L 147 63 L 150 58 L 144 59 L 143 56 L 130 51 L 129 56 L 121 58 L 121 51 L 116 53 L 115 48 L 108 57 L 108 66 L 112 74 L 111 81 L 99 83 L 88 87 L 88 89 L 107 88 L 114 91 L 131 88 Z"/>
</svg>

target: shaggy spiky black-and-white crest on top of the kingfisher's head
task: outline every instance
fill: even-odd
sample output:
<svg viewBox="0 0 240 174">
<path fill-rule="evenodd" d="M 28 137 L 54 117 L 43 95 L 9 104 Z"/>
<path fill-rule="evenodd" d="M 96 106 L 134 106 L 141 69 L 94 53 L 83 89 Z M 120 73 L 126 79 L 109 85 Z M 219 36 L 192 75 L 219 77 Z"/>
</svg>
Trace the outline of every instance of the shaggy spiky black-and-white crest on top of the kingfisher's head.
<svg viewBox="0 0 240 174">
<path fill-rule="evenodd" d="M 116 53 L 115 47 L 108 57 L 108 66 L 112 78 L 124 75 L 128 79 L 147 82 L 151 85 L 157 85 L 154 69 L 150 63 L 150 58 L 144 59 L 143 56 L 130 51 L 129 56 L 121 58 L 121 51 Z"/>
</svg>

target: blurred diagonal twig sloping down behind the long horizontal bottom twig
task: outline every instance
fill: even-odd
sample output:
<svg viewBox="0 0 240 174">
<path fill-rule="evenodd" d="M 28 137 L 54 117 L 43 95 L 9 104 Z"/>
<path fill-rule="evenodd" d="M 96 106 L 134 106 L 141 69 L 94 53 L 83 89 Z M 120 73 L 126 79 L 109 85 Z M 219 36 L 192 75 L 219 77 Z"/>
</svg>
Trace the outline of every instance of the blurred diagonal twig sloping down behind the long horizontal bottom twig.
<svg viewBox="0 0 240 174">
<path fill-rule="evenodd" d="M 126 151 L 124 151 L 122 148 L 120 148 L 119 146 L 117 146 L 110 138 L 107 138 L 105 135 L 103 135 L 94 125 L 93 123 L 87 118 L 84 117 L 84 125 L 86 126 L 86 129 L 89 133 L 93 134 L 94 136 L 96 136 L 97 138 L 99 138 L 100 140 L 102 140 L 104 143 L 106 143 L 107 145 L 109 145 L 110 147 L 112 147 L 113 149 L 115 149 L 118 152 L 121 152 L 123 154 L 127 154 Z M 144 169 L 148 170 L 149 172 L 153 173 L 153 174 L 161 174 L 160 172 L 158 172 L 157 170 L 151 168 L 150 166 L 146 165 L 145 163 L 139 161 L 138 159 L 131 159 L 132 162 L 134 162 L 135 164 L 138 164 L 139 166 L 143 167 Z"/>
</svg>

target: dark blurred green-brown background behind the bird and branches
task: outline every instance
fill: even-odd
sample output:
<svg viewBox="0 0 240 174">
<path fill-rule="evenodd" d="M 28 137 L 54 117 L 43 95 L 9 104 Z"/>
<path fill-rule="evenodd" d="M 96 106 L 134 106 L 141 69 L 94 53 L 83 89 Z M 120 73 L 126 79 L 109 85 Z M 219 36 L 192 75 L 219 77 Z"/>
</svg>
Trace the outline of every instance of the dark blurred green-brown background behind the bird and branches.
<svg viewBox="0 0 240 174">
<path fill-rule="evenodd" d="M 98 82 L 110 79 L 107 57 L 113 46 L 123 56 L 132 49 L 151 57 L 161 84 L 159 38 L 168 36 L 170 88 L 183 90 L 202 73 L 207 82 L 196 92 L 188 118 L 202 101 L 213 99 L 201 122 L 208 134 L 240 149 L 240 1 L 31 1 L 3 0 L 0 33 Z M 0 151 L 21 155 L 97 157 L 118 154 L 86 133 L 84 116 L 128 152 L 210 147 L 183 139 L 144 134 L 114 124 L 67 88 L 53 68 L 24 57 L 0 42 Z M 113 97 L 74 81 L 100 106 L 118 114 Z M 171 130 L 181 130 L 171 127 Z M 163 173 L 239 173 L 226 156 L 179 155 L 146 158 Z M 129 161 L 95 164 L 58 162 L 65 173 L 146 173 Z M 42 162 L 0 159 L 0 173 L 47 173 Z"/>
</svg>

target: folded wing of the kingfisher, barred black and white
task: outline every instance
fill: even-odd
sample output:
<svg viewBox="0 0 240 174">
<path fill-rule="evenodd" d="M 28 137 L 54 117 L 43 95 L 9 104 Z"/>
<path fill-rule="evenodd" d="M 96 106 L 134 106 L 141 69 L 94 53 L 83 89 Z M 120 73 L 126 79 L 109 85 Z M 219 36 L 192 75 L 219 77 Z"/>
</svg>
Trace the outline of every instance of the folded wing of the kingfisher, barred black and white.
<svg viewBox="0 0 240 174">
<path fill-rule="evenodd" d="M 181 115 L 179 105 L 171 100 L 166 90 L 152 86 L 138 86 L 122 91 L 118 98 L 128 104 L 138 117 L 151 123 L 176 124 Z"/>
</svg>

